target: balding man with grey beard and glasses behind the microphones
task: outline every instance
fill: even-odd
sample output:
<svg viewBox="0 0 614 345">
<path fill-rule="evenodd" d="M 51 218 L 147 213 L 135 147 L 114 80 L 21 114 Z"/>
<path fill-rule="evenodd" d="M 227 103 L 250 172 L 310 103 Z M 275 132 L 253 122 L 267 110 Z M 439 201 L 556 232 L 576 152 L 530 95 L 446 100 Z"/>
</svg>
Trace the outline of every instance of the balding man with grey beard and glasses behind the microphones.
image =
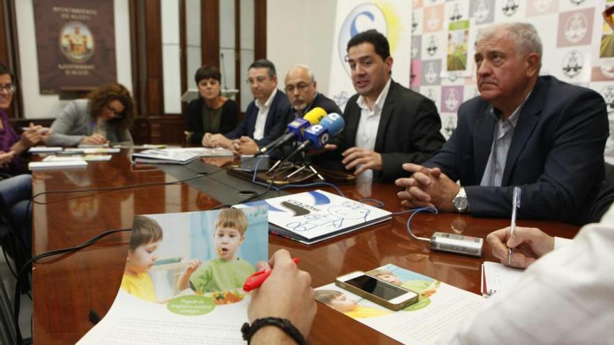
<svg viewBox="0 0 614 345">
<path fill-rule="evenodd" d="M 285 75 L 284 84 L 285 94 L 292 105 L 288 123 L 295 117 L 303 117 L 315 107 L 321 107 L 327 114 L 341 114 L 341 109 L 334 100 L 317 92 L 315 76 L 307 66 L 297 65 L 290 68 Z"/>
</svg>

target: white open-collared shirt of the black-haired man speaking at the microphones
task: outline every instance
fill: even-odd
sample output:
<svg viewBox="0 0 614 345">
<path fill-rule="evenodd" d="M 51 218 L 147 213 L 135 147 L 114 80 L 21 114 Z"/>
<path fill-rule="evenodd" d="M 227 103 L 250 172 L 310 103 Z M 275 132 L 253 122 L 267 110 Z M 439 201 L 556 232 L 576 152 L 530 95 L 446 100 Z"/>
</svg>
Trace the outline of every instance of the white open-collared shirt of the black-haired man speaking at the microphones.
<svg viewBox="0 0 614 345">
<path fill-rule="evenodd" d="M 382 109 L 384 102 L 390 89 L 392 79 L 388 79 L 386 86 L 377 96 L 377 100 L 373 104 L 373 109 L 369 109 L 364 96 L 359 96 L 356 104 L 360 107 L 360 121 L 356 131 L 356 146 L 366 150 L 375 151 L 375 139 L 377 138 L 377 128 L 380 127 L 380 117 L 382 117 Z M 363 178 L 373 178 L 373 170 L 367 169 L 363 172 Z"/>
</svg>

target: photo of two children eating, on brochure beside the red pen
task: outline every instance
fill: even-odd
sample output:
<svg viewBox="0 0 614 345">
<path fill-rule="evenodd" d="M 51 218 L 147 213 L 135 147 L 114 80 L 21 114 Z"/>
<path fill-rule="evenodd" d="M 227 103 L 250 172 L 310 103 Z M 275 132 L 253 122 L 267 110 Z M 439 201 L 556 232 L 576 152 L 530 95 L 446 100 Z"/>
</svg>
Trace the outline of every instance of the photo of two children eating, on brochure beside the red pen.
<svg viewBox="0 0 614 345">
<path fill-rule="evenodd" d="M 121 289 L 149 302 L 199 295 L 232 304 L 268 254 L 266 207 L 137 215 Z"/>
</svg>

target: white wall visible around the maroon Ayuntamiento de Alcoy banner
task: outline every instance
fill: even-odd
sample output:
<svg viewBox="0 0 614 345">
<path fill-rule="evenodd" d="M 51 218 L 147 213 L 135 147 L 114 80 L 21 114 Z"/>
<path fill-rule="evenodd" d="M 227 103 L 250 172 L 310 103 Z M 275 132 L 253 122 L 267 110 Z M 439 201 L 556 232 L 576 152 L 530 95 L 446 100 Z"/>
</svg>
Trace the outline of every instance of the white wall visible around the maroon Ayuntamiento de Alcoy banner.
<svg viewBox="0 0 614 345">
<path fill-rule="evenodd" d="M 114 0 L 113 6 L 115 13 L 117 82 L 123 84 L 132 92 L 128 0 Z M 32 0 L 15 1 L 15 13 L 17 15 L 17 40 L 20 49 L 20 85 L 24 99 L 24 117 L 56 117 L 68 101 L 59 100 L 58 95 L 40 95 Z"/>
</svg>

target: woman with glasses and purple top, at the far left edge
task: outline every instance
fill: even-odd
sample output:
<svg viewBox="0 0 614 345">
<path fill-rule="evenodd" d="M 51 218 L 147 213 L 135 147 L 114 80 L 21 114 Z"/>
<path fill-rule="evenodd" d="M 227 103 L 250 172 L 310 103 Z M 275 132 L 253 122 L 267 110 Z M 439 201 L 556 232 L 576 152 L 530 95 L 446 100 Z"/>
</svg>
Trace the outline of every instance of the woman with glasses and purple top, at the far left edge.
<svg viewBox="0 0 614 345">
<path fill-rule="evenodd" d="M 6 109 L 10 107 L 15 95 L 13 74 L 8 67 L 0 63 L 0 173 L 3 175 L 17 175 L 27 172 L 20 155 L 28 148 L 46 139 L 48 135 L 45 128 L 30 123 L 22 135 L 17 135 L 8 122 Z"/>
</svg>

